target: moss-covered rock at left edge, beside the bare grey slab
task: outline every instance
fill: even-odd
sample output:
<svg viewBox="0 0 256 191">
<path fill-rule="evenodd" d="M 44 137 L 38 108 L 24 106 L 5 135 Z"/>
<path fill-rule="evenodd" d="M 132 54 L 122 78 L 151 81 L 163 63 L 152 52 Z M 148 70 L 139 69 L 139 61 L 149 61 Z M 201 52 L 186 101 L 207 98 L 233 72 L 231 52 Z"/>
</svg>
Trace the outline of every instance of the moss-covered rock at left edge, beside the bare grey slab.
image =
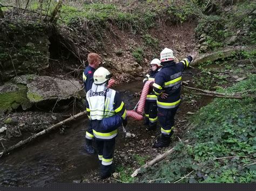
<svg viewBox="0 0 256 191">
<path fill-rule="evenodd" d="M 24 110 L 31 107 L 26 97 L 26 91 L 26 86 L 22 84 L 6 83 L 0 86 L 0 113 L 3 114 L 6 111 L 12 111 L 19 106 L 22 106 Z"/>
</svg>

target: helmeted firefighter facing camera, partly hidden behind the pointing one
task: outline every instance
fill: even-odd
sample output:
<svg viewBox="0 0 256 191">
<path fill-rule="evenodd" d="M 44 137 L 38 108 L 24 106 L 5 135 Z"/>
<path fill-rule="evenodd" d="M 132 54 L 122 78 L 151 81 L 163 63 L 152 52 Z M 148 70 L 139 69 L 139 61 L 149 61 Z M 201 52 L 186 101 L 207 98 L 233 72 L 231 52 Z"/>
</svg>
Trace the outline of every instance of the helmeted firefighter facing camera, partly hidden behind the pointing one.
<svg viewBox="0 0 256 191">
<path fill-rule="evenodd" d="M 153 59 L 150 62 L 150 67 L 150 73 L 145 76 L 143 83 L 146 83 L 148 80 L 154 81 L 154 76 L 161 69 L 161 61 L 159 59 Z M 153 91 L 152 84 L 150 84 L 151 87 L 149 94 L 147 94 L 144 108 L 144 124 L 147 126 L 146 130 L 153 130 L 157 127 L 157 96 Z"/>
</svg>

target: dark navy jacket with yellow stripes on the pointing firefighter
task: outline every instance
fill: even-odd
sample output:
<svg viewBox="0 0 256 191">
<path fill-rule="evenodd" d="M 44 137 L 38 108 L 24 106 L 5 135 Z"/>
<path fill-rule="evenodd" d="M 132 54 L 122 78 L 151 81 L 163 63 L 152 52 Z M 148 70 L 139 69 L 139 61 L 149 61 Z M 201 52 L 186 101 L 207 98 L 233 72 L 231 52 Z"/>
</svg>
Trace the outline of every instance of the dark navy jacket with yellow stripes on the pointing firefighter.
<svg viewBox="0 0 256 191">
<path fill-rule="evenodd" d="M 178 63 L 167 61 L 167 65 L 163 66 L 157 73 L 155 82 L 153 83 L 153 89 L 158 96 L 158 107 L 163 109 L 178 107 L 180 104 L 181 74 L 189 66 L 191 61 L 191 56 L 187 56 L 187 58 Z M 163 91 L 168 94 L 165 99 L 160 97 Z"/>
</svg>

